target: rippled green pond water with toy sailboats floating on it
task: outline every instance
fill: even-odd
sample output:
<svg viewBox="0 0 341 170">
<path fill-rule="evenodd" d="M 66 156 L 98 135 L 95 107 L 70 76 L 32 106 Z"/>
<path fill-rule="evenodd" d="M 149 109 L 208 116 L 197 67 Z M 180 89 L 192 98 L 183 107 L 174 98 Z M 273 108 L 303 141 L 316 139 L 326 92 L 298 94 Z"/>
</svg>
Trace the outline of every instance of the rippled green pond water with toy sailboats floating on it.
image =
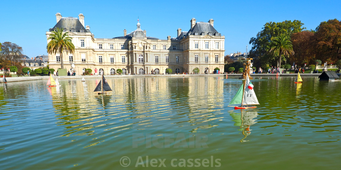
<svg viewBox="0 0 341 170">
<path fill-rule="evenodd" d="M 245 110 L 236 77 L 0 84 L 0 169 L 339 169 L 341 82 L 294 79 L 254 77 Z"/>
</svg>

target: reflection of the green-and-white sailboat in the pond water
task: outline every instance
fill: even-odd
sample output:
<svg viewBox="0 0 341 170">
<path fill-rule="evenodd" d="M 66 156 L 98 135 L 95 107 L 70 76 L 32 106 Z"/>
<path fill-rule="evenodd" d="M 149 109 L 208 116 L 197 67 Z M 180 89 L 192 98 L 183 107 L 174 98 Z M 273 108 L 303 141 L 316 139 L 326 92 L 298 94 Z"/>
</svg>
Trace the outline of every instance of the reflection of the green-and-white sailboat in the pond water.
<svg viewBox="0 0 341 170">
<path fill-rule="evenodd" d="M 239 126 L 240 129 L 238 131 L 242 131 L 244 137 L 240 140 L 240 142 L 246 142 L 246 137 L 251 134 L 250 126 L 257 123 L 256 117 L 258 113 L 252 110 L 240 109 L 231 111 L 230 116 L 233 118 L 232 121 L 235 122 L 235 126 Z"/>
</svg>

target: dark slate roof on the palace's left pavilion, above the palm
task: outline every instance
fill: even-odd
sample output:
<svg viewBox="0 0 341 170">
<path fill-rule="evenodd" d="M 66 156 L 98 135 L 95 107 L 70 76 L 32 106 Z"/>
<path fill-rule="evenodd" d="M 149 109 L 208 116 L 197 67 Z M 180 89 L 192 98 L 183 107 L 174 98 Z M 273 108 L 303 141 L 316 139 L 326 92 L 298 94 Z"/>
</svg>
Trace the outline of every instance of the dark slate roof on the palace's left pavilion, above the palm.
<svg viewBox="0 0 341 170">
<path fill-rule="evenodd" d="M 79 30 L 83 30 L 83 32 L 90 32 L 90 30 L 84 28 L 78 18 L 74 17 L 62 17 L 53 28 L 49 29 L 49 31 L 53 31 L 56 28 L 66 28 L 66 31 L 70 32 L 71 29 L 74 29 L 75 32 L 79 32 Z"/>
</svg>

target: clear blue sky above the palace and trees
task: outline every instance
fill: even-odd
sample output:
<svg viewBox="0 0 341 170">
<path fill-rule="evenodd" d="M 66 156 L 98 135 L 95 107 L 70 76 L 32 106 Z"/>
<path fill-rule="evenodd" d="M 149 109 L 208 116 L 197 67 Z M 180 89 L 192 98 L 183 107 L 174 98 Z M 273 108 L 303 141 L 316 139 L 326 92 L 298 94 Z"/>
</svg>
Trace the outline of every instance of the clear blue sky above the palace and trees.
<svg viewBox="0 0 341 170">
<path fill-rule="evenodd" d="M 57 3 L 58 2 L 58 3 Z M 341 17 L 340 0 L 306 1 L 1 1 L 0 42 L 23 47 L 29 57 L 46 55 L 46 31 L 56 24 L 57 12 L 63 17 L 84 15 L 85 25 L 95 38 L 123 36 L 136 29 L 137 17 L 147 36 L 167 39 L 177 29 L 190 29 L 190 20 L 214 20 L 214 28 L 225 35 L 225 55 L 251 49 L 251 37 L 266 22 L 300 20 L 307 30 L 320 22 Z"/>
</svg>

